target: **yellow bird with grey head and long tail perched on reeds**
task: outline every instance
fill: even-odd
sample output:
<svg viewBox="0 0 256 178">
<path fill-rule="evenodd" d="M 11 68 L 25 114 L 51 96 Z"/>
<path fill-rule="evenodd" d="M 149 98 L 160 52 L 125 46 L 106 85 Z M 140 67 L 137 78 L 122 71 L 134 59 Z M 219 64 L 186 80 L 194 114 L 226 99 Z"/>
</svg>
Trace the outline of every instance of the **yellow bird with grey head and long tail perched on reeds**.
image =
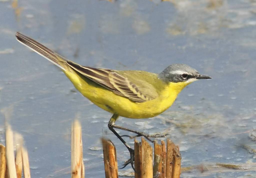
<svg viewBox="0 0 256 178">
<path fill-rule="evenodd" d="M 169 65 L 159 74 L 82 66 L 20 32 L 16 32 L 15 36 L 20 43 L 57 65 L 83 96 L 113 114 L 108 128 L 130 152 L 130 159 L 124 167 L 130 163 L 133 169 L 134 150 L 114 128 L 134 132 L 136 136 L 144 136 L 148 140 L 165 135 L 149 135 L 116 125 L 115 121 L 120 116 L 133 119 L 155 117 L 168 109 L 188 84 L 199 79 L 211 79 L 186 64 Z"/>
</svg>

